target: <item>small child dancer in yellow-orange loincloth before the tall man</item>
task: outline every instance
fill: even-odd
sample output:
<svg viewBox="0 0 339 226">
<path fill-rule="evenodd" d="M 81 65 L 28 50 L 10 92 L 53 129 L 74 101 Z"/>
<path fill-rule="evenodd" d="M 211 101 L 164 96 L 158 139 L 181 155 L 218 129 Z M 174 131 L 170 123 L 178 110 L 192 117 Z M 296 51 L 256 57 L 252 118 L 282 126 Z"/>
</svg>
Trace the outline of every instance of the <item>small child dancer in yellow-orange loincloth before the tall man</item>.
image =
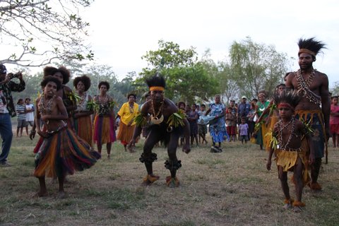
<svg viewBox="0 0 339 226">
<path fill-rule="evenodd" d="M 314 162 L 314 147 L 313 143 L 309 142 L 311 140 L 309 134 L 311 129 L 294 117 L 295 106 L 300 100 L 296 92 L 276 94 L 273 98 L 278 106 L 280 119 L 273 129 L 266 167 L 270 170 L 274 150 L 279 179 L 285 194 L 284 208 L 292 208 L 293 211 L 299 212 L 305 206 L 302 203 L 302 189 L 310 180 L 307 167 Z M 309 153 L 309 156 L 307 156 L 307 153 Z M 295 184 L 295 201 L 290 196 L 287 171 L 293 172 L 292 182 Z"/>
</svg>

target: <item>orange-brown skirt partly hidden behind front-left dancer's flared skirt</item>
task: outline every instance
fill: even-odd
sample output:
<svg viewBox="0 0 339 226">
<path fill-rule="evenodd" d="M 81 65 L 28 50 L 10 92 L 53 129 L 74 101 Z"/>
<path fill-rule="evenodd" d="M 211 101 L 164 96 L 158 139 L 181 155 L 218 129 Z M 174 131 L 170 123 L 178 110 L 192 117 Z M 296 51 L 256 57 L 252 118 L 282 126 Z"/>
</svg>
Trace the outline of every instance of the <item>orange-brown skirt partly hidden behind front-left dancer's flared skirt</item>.
<svg viewBox="0 0 339 226">
<path fill-rule="evenodd" d="M 74 129 L 76 134 L 85 140 L 90 146 L 93 145 L 92 121 L 90 115 L 74 119 Z"/>
</svg>

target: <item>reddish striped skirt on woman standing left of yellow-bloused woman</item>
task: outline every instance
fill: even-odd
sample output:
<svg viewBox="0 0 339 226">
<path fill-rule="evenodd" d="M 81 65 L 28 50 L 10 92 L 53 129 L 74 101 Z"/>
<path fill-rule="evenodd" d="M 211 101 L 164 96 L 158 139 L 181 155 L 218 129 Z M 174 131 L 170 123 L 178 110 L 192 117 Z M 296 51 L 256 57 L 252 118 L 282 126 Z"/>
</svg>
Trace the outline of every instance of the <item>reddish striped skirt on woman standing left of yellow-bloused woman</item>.
<svg viewBox="0 0 339 226">
<path fill-rule="evenodd" d="M 115 136 L 115 120 L 112 116 L 98 116 L 94 119 L 93 141 L 98 145 L 103 143 L 113 143 L 117 141 Z"/>
</svg>

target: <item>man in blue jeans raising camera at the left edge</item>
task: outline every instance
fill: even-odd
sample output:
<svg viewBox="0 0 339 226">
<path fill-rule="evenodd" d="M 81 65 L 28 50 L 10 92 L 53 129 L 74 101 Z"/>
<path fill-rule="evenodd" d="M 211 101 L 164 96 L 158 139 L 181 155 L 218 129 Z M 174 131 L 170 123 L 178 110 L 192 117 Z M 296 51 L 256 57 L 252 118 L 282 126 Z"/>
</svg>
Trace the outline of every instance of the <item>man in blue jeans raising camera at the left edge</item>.
<svg viewBox="0 0 339 226">
<path fill-rule="evenodd" d="M 12 78 L 18 78 L 20 83 L 11 81 Z M 23 90 L 25 90 L 23 74 L 21 72 L 7 74 L 6 66 L 0 64 L 0 134 L 2 138 L 0 167 L 11 166 L 7 162 L 7 157 L 13 138 L 11 117 L 16 116 L 12 91 L 21 92 Z"/>
</svg>

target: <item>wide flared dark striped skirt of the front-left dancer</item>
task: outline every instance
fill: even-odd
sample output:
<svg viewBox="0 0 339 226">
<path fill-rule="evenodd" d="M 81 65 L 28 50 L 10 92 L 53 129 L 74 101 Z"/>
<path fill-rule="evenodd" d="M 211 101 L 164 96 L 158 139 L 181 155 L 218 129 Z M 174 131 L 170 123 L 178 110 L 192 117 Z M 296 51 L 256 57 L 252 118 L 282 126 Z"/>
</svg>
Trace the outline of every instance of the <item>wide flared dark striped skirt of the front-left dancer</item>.
<svg viewBox="0 0 339 226">
<path fill-rule="evenodd" d="M 100 154 L 67 126 L 44 138 L 35 156 L 35 177 L 60 177 L 92 167 Z"/>
</svg>

